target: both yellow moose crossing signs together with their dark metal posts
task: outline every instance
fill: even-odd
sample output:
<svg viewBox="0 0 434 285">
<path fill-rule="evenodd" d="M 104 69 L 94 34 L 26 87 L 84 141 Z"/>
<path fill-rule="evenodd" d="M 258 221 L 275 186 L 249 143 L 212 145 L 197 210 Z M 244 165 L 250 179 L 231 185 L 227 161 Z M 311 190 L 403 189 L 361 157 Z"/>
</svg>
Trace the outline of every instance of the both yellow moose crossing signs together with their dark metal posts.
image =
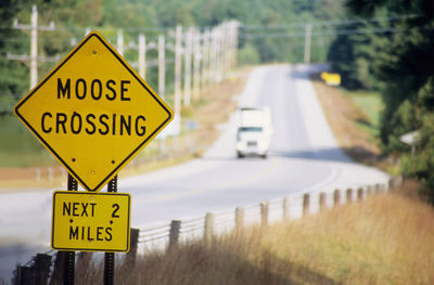
<svg viewBox="0 0 434 285">
<path fill-rule="evenodd" d="M 104 284 L 113 284 L 114 252 L 127 252 L 130 238 L 131 198 L 117 193 L 117 173 L 173 120 L 171 109 L 92 31 L 14 112 L 68 171 L 68 191 L 53 194 L 51 235 L 64 284 L 74 284 L 78 250 L 105 251 Z"/>
</svg>

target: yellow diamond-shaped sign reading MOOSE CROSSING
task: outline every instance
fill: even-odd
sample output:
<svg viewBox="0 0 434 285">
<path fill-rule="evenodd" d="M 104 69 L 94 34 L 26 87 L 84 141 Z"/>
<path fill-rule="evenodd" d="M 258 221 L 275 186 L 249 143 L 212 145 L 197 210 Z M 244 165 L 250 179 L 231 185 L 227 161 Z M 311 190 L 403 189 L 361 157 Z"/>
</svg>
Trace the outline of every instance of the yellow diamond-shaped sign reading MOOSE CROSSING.
<svg viewBox="0 0 434 285">
<path fill-rule="evenodd" d="M 166 103 L 97 31 L 14 108 L 88 191 L 98 191 L 173 119 Z"/>
</svg>

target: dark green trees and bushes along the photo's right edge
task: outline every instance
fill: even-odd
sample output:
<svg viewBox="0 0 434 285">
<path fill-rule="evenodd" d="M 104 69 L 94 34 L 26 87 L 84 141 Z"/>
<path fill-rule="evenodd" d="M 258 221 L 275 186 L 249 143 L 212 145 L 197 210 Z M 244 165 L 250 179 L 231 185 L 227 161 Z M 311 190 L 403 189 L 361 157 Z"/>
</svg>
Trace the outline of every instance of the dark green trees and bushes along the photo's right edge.
<svg viewBox="0 0 434 285">
<path fill-rule="evenodd" d="M 334 39 L 332 68 L 345 88 L 381 93 L 381 150 L 399 158 L 399 170 L 421 181 L 434 202 L 433 1 L 350 0 L 345 8 L 366 22 L 348 23 L 352 33 Z M 413 131 L 412 147 L 400 138 Z"/>
</svg>

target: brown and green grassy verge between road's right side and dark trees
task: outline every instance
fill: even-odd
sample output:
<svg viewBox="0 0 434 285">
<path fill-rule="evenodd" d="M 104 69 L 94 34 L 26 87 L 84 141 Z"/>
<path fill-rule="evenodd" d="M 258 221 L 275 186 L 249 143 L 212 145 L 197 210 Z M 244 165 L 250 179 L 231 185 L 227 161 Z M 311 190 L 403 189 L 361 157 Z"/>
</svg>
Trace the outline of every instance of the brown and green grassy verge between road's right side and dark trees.
<svg viewBox="0 0 434 285">
<path fill-rule="evenodd" d="M 311 75 L 317 98 L 341 148 L 354 160 L 399 173 L 393 159 L 380 148 L 380 115 L 384 108 L 380 94 L 327 86 Z"/>
</svg>

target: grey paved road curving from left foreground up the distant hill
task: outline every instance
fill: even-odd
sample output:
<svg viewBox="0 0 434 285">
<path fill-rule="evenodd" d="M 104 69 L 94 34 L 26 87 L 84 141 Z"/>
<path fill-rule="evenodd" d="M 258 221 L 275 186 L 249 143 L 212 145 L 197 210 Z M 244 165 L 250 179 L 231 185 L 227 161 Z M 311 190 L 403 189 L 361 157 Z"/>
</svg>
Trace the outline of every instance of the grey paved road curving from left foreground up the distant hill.
<svg viewBox="0 0 434 285">
<path fill-rule="evenodd" d="M 239 98 L 241 106 L 271 108 L 275 132 L 268 159 L 235 158 L 232 118 L 203 158 L 119 180 L 119 192 L 132 196 L 131 224 L 140 228 L 289 194 L 386 181 L 386 174 L 355 164 L 337 147 L 308 80 L 311 68 L 257 68 Z M 49 249 L 51 195 L 0 196 L 0 241 L 10 245 L 0 248 L 0 277 L 36 248 Z"/>
</svg>

